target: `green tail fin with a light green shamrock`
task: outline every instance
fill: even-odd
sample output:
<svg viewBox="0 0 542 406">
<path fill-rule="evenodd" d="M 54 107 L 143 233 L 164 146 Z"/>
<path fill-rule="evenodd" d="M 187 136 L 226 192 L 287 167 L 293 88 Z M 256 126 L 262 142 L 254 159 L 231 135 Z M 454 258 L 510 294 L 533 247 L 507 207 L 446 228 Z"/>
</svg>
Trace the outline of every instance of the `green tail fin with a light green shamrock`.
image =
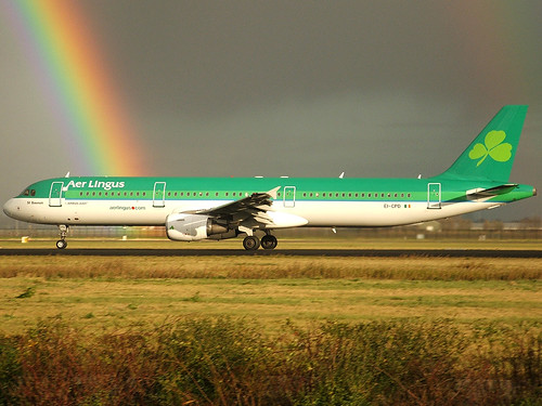
<svg viewBox="0 0 542 406">
<path fill-rule="evenodd" d="M 449 179 L 507 182 L 528 106 L 504 106 L 457 160 L 441 174 Z"/>
</svg>

